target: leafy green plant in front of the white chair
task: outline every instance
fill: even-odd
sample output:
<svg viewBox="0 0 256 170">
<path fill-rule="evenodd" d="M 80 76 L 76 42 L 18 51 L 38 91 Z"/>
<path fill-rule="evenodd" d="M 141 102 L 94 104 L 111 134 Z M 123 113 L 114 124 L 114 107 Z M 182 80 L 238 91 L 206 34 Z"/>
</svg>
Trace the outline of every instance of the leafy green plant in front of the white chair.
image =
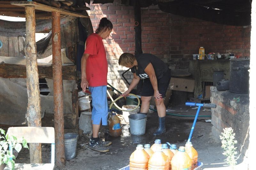
<svg viewBox="0 0 256 170">
<path fill-rule="evenodd" d="M 6 164 L 14 169 L 15 156 L 8 150 L 9 145 L 19 152 L 22 148 L 21 144 L 17 142 L 17 138 L 9 136 L 8 133 L 5 135 L 5 131 L 0 129 L 0 164 Z M 22 145 L 24 148 L 28 148 L 26 139 L 23 138 Z"/>
</svg>

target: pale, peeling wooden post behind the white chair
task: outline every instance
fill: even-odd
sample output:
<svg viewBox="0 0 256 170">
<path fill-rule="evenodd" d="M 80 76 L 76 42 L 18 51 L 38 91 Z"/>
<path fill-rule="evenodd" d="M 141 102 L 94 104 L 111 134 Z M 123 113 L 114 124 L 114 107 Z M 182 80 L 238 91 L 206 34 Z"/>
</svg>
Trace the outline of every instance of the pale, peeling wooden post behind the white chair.
<svg viewBox="0 0 256 170">
<path fill-rule="evenodd" d="M 35 7 L 25 7 L 26 16 L 26 71 L 27 71 L 27 114 L 28 126 L 41 127 L 41 104 L 35 44 Z M 40 135 L 40 134 L 38 134 Z M 30 144 L 30 163 L 42 163 L 41 144 Z"/>
</svg>

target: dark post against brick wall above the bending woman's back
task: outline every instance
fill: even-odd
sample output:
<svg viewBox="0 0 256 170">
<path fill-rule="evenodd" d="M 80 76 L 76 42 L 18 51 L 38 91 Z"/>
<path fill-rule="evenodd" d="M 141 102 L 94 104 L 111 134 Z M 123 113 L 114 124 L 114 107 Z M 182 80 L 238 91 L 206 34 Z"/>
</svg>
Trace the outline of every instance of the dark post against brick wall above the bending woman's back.
<svg viewBox="0 0 256 170">
<path fill-rule="evenodd" d="M 141 45 L 141 10 L 140 4 L 136 1 L 134 6 L 134 30 L 135 30 L 135 54 L 142 53 Z"/>
</svg>

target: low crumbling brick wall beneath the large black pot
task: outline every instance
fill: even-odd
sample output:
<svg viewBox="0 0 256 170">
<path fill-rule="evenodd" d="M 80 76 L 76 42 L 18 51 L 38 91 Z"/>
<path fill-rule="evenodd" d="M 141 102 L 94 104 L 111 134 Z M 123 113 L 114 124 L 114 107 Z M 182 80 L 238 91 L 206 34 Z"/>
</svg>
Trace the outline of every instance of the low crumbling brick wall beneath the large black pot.
<svg viewBox="0 0 256 170">
<path fill-rule="evenodd" d="M 234 100 L 238 98 L 240 100 Z M 249 95 L 231 93 L 229 91 L 217 91 L 211 87 L 211 103 L 217 105 L 212 112 L 212 133 L 220 139 L 223 128 L 232 127 L 237 150 L 247 156 L 249 144 Z"/>
</svg>

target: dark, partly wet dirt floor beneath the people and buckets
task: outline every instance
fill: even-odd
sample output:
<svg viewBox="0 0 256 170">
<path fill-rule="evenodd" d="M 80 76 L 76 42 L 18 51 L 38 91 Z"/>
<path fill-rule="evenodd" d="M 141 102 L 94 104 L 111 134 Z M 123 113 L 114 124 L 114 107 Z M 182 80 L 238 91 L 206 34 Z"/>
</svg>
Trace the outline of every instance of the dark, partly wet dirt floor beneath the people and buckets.
<svg viewBox="0 0 256 170">
<path fill-rule="evenodd" d="M 185 105 L 170 106 L 172 113 L 180 115 L 195 115 L 197 109 Z M 211 115 L 211 111 L 202 108 L 199 115 Z M 198 161 L 203 162 L 202 169 L 230 169 L 224 161 L 222 155 L 221 142 L 212 136 L 211 122 L 205 120 L 211 117 L 198 117 L 197 124 L 191 142 L 198 151 Z M 128 128 L 129 124 L 122 121 L 122 135 L 117 138 L 110 137 L 107 131 L 102 128 L 100 137 L 112 141 L 109 146 L 110 152 L 100 153 L 88 148 L 89 135 L 82 135 L 78 141 L 76 158 L 66 160 L 66 166 L 62 170 L 118 170 L 129 164 L 129 157 L 136 149 L 137 144 L 152 145 L 155 139 L 161 139 L 162 143 L 169 142 L 176 144 L 177 147 L 184 146 L 193 124 L 194 117 L 178 117 L 167 115 L 166 133 L 160 136 L 153 136 L 153 132 L 158 127 L 157 112 L 148 114 L 146 123 L 146 134 L 142 136 L 131 135 Z M 44 163 L 50 162 L 50 145 L 42 146 L 42 157 Z M 28 163 L 29 151 L 22 149 L 15 163 Z M 246 160 L 237 160 L 237 169 L 247 169 Z M 60 169 L 60 168 L 57 168 Z"/>
</svg>

